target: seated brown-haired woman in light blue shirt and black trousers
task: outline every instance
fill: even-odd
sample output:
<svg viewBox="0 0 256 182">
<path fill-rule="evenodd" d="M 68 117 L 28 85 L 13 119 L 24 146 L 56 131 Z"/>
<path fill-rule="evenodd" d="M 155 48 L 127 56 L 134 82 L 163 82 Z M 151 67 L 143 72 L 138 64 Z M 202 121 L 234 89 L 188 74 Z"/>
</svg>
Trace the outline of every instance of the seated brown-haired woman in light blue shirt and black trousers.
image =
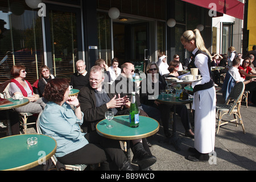
<svg viewBox="0 0 256 182">
<path fill-rule="evenodd" d="M 101 137 L 96 131 L 81 132 L 84 113 L 77 97 L 68 94 L 69 81 L 64 78 L 50 80 L 43 94 L 48 103 L 40 117 L 40 127 L 43 134 L 56 140 L 57 159 L 63 164 L 101 163 L 102 170 L 133 170 L 118 140 Z M 110 167 L 110 161 L 115 166 Z"/>
</svg>

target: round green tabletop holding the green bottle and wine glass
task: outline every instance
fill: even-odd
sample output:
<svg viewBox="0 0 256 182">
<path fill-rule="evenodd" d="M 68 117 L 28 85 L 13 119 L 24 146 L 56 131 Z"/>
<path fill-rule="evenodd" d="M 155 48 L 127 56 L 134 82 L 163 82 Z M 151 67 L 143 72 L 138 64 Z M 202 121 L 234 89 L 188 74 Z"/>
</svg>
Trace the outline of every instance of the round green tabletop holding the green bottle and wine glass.
<svg viewBox="0 0 256 182">
<path fill-rule="evenodd" d="M 109 121 L 103 119 L 98 122 L 96 126 L 97 133 L 103 137 L 116 140 L 133 140 L 139 138 L 146 138 L 154 135 L 159 130 L 159 123 L 150 117 L 139 116 L 139 127 L 130 127 L 129 115 L 115 116 L 111 125 L 112 129 L 107 129 L 106 124 Z"/>
</svg>

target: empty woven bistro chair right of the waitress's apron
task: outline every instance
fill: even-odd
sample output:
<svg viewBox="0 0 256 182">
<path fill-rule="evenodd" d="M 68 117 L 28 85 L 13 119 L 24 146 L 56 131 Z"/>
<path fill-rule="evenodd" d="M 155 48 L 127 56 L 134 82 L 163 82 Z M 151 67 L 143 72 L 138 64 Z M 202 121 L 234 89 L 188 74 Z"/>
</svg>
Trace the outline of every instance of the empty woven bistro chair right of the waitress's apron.
<svg viewBox="0 0 256 182">
<path fill-rule="evenodd" d="M 229 96 L 227 100 L 225 101 L 225 104 L 217 104 L 216 105 L 216 114 L 218 113 L 218 128 L 217 128 L 217 134 L 218 130 L 220 129 L 220 126 L 225 125 L 226 123 L 234 123 L 236 126 L 241 125 L 243 129 L 243 133 L 245 134 L 245 127 L 243 126 L 241 114 L 240 114 L 240 107 L 241 107 L 241 100 L 243 96 L 243 91 L 245 90 L 245 84 L 243 82 L 238 82 L 234 87 L 232 88 L 231 92 L 229 93 Z M 222 120 L 222 117 L 225 115 L 232 115 L 234 116 L 234 119 L 230 121 L 224 121 Z"/>
</svg>

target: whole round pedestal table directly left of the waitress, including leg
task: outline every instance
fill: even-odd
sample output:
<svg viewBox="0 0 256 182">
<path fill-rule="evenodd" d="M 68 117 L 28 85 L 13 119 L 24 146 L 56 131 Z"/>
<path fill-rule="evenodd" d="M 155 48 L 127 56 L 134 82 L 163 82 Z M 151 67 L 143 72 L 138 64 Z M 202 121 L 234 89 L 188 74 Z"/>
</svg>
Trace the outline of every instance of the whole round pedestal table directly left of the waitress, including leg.
<svg viewBox="0 0 256 182">
<path fill-rule="evenodd" d="M 173 144 L 176 150 L 180 150 L 179 147 L 179 138 L 177 137 L 176 133 L 176 105 L 178 104 L 191 104 L 193 102 L 192 98 L 189 98 L 188 100 L 180 100 L 179 98 L 176 98 L 176 95 L 174 93 L 168 95 L 159 95 L 158 98 L 156 99 L 158 102 L 162 104 L 167 104 L 167 105 L 173 105 L 174 106 L 174 114 L 173 114 L 173 123 L 172 123 L 172 137 L 171 138 L 166 138 L 164 142 Z"/>
</svg>

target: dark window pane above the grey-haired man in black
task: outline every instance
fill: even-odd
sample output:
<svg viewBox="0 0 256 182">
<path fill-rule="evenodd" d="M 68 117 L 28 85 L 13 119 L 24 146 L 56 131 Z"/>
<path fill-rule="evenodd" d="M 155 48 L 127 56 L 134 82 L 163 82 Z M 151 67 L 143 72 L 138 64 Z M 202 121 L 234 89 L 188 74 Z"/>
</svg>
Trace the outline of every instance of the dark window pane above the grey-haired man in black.
<svg viewBox="0 0 256 182">
<path fill-rule="evenodd" d="M 51 10 L 49 12 L 53 75 L 69 78 L 76 72 L 77 22 L 76 14 Z"/>
</svg>

